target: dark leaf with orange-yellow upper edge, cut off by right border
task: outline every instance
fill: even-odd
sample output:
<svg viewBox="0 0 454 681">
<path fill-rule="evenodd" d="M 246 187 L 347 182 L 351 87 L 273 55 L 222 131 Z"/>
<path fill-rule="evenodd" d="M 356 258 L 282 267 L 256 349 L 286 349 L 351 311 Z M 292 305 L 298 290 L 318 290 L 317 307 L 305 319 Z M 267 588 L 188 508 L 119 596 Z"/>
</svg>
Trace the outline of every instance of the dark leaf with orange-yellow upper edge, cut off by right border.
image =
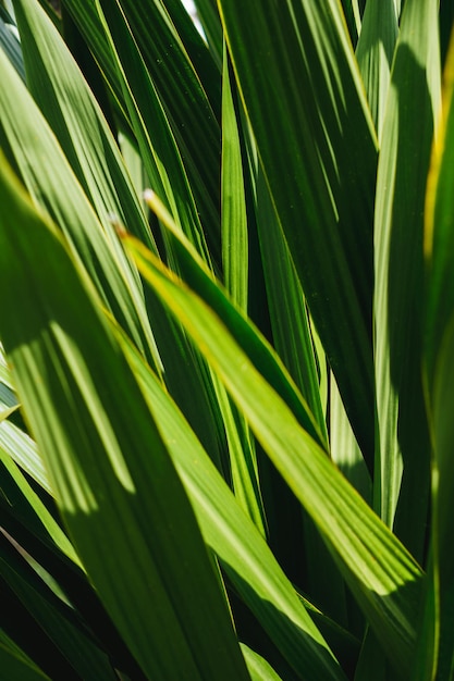
<svg viewBox="0 0 454 681">
<path fill-rule="evenodd" d="M 432 545 L 430 584 L 422 631 L 429 645 L 419 660 L 437 679 L 452 677 L 454 622 L 454 550 L 450 540 L 453 512 L 454 429 L 452 423 L 454 347 L 454 41 L 446 55 L 442 125 L 435 139 L 427 186 L 425 257 L 425 377 L 432 457 Z M 418 681 L 419 681 L 419 677 Z M 422 677 L 421 677 L 422 678 Z M 432 677 L 433 678 L 433 677 Z"/>
</svg>

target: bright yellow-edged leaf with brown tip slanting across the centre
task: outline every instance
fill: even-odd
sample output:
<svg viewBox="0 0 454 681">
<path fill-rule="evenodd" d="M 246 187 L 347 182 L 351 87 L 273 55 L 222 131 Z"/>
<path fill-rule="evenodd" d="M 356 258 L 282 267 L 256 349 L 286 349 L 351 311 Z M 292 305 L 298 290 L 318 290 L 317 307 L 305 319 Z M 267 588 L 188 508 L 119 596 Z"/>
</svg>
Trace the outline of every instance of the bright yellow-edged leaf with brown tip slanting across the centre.
<svg viewBox="0 0 454 681">
<path fill-rule="evenodd" d="M 139 271 L 184 324 L 312 518 L 386 655 L 407 673 L 416 641 L 420 568 L 235 343 L 232 312 L 221 321 L 133 237 L 126 244 Z"/>
</svg>

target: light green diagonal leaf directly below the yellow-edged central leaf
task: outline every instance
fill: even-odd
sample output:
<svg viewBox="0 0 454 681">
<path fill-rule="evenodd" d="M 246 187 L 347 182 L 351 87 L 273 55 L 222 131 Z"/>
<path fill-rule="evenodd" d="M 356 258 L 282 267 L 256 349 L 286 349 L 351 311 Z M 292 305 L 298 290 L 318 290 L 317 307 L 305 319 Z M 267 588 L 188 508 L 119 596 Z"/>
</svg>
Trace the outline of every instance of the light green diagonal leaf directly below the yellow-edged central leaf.
<svg viewBox="0 0 454 681">
<path fill-rule="evenodd" d="M 156 375 L 116 329 L 119 340 L 140 382 L 150 411 L 191 498 L 206 543 L 248 608 L 282 655 L 304 677 L 343 679 L 338 664 L 280 568 L 263 536 L 245 515 L 231 490 L 204 451 L 195 433 Z M 307 603 L 307 602 L 305 602 Z M 319 611 L 318 626 L 332 631 Z"/>
</svg>

